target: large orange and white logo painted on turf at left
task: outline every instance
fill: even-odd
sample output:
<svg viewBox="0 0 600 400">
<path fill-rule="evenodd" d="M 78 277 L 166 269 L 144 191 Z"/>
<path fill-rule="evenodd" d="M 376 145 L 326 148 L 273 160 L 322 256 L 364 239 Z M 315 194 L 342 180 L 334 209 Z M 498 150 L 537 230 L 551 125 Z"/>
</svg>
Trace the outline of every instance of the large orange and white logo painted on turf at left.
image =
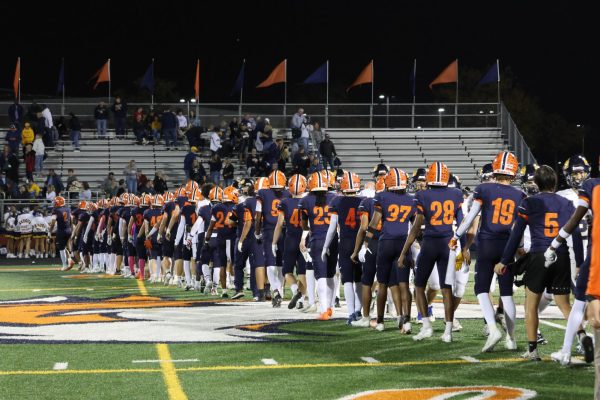
<svg viewBox="0 0 600 400">
<path fill-rule="evenodd" d="M 0 343 L 238 342 L 285 338 L 287 322 L 253 303 L 151 296 L 0 302 Z M 259 312 L 257 312 L 259 311 Z"/>
</svg>

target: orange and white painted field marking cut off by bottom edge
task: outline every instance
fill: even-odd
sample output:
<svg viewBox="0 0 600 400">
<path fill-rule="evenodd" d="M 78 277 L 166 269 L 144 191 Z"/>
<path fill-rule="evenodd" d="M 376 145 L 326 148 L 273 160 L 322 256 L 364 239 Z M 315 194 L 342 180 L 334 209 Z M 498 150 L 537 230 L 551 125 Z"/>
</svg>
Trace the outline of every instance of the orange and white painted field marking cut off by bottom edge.
<svg viewBox="0 0 600 400">
<path fill-rule="evenodd" d="M 525 400 L 536 396 L 528 389 L 506 386 L 456 386 L 415 389 L 372 390 L 343 397 L 340 400 Z"/>
</svg>

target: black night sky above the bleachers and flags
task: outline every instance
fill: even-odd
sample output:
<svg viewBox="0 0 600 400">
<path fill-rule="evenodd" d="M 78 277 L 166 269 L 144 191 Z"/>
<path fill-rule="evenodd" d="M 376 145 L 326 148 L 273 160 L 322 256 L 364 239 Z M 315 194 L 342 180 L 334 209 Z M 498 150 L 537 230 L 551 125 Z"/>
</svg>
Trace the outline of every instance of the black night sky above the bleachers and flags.
<svg viewBox="0 0 600 400">
<path fill-rule="evenodd" d="M 340 89 L 333 99 L 344 96 L 343 88 L 374 58 L 375 92 L 409 101 L 409 71 L 417 58 L 417 101 L 426 102 L 432 100 L 427 84 L 453 59 L 483 70 L 499 58 L 546 111 L 588 125 L 597 114 L 597 15 L 590 2 L 207 3 L 3 2 L 0 96 L 10 97 L 17 56 L 23 92 L 32 96 L 55 92 L 61 57 L 67 95 L 73 96 L 106 94 L 94 92 L 88 79 L 108 57 L 113 88 L 131 86 L 154 57 L 155 76 L 176 81 L 179 93 L 192 97 L 200 58 L 202 102 L 237 101 L 229 94 L 243 58 L 250 102 L 281 100 L 277 87 L 253 87 L 283 58 L 289 102 L 303 90 L 295 82 L 326 59 L 332 88 Z M 348 100 L 366 102 L 368 93 L 360 88 Z"/>
</svg>

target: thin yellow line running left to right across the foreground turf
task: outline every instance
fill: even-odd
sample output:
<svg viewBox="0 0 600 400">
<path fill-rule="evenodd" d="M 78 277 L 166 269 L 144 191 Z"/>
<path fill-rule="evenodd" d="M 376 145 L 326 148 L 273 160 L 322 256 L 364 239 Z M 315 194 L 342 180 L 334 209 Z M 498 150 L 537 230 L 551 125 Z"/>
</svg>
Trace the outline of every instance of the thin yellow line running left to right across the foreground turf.
<svg viewBox="0 0 600 400">
<path fill-rule="evenodd" d="M 164 344 L 157 344 L 157 350 L 159 346 L 166 346 Z M 161 350 L 162 351 L 162 350 Z M 166 354 L 160 354 L 161 360 L 170 360 L 171 355 L 168 352 Z M 546 358 L 545 361 L 549 361 Z M 495 364 L 495 363 L 519 363 L 526 361 L 523 358 L 495 358 L 489 360 L 480 360 L 477 364 Z M 431 361 L 397 361 L 397 362 L 379 362 L 379 363 L 367 363 L 367 362 L 356 362 L 356 363 L 317 363 L 317 364 L 278 364 L 278 365 L 215 365 L 207 367 L 188 367 L 188 368 L 175 368 L 174 364 L 168 362 L 162 362 L 161 367 L 164 365 L 170 365 L 171 371 L 175 372 L 210 372 L 210 371 L 248 371 L 248 370 L 265 370 L 265 369 L 311 369 L 311 368 L 379 368 L 379 367 L 406 367 L 406 366 L 421 366 L 421 365 L 453 365 L 453 364 L 473 364 L 470 361 L 457 359 L 457 360 L 431 360 Z M 119 373 L 154 373 L 162 372 L 165 374 L 164 367 L 161 369 L 156 368 L 131 368 L 131 369 L 67 369 L 67 370 L 18 370 L 18 371 L 0 371 L 0 376 L 3 375 L 64 375 L 64 374 L 119 374 Z M 176 376 L 175 376 L 176 378 Z M 166 377 L 165 377 L 166 381 Z M 179 383 L 179 381 L 178 381 Z M 167 385 L 168 386 L 168 385 Z"/>
</svg>

